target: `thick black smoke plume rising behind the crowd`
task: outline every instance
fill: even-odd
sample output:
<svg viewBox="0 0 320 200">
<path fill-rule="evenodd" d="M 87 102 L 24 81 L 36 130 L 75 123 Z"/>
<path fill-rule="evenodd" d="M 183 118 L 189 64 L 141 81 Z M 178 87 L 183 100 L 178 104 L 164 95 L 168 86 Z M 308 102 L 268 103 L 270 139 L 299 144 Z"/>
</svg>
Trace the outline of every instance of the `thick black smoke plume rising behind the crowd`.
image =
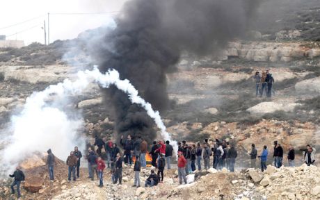
<svg viewBox="0 0 320 200">
<path fill-rule="evenodd" d="M 133 0 L 125 3 L 116 28 L 99 41 L 101 72 L 120 72 L 160 112 L 169 108 L 166 74 L 175 72 L 182 52 L 214 54 L 248 30 L 258 0 Z M 152 142 L 154 123 L 116 88 L 103 89 L 113 108 L 119 135 L 141 135 Z M 117 138 L 118 138 L 117 137 Z"/>
</svg>

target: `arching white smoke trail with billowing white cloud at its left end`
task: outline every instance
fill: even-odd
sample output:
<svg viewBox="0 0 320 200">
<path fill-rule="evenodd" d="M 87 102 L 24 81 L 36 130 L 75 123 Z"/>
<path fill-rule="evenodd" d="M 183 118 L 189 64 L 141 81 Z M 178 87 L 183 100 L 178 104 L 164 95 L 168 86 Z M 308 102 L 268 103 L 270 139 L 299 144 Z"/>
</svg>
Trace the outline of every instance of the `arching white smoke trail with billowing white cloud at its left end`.
<svg viewBox="0 0 320 200">
<path fill-rule="evenodd" d="M 43 152 L 51 148 L 58 158 L 66 158 L 75 145 L 83 147 L 83 138 L 77 139 L 82 121 L 70 119 L 63 107 L 68 103 L 68 96 L 81 94 L 88 84 L 93 82 L 98 83 L 102 88 L 115 85 L 118 90 L 125 92 L 131 103 L 144 108 L 147 115 L 154 119 L 163 140 L 172 141 L 159 112 L 154 111 L 151 104 L 138 95 L 138 91 L 127 79 L 120 80 L 120 75 L 115 70 L 102 74 L 95 67 L 92 71 L 79 71 L 78 79 L 74 82 L 65 79 L 63 83 L 50 85 L 44 91 L 35 92 L 26 99 L 22 113 L 12 117 L 13 135 L 9 141 L 6 141 L 8 145 L 5 149 L 0 151 L 2 156 L 0 161 L 3 163 L 0 174 L 6 174 L 19 161 L 35 151 Z M 177 152 L 177 142 L 172 141 L 172 144 Z"/>
</svg>

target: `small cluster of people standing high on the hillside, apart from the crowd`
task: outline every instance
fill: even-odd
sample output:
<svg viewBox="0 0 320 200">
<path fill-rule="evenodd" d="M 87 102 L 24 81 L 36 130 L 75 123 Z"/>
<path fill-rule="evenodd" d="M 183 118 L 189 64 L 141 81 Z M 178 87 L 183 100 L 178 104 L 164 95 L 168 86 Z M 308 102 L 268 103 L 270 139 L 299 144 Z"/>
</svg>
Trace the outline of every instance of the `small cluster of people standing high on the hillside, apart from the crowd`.
<svg viewBox="0 0 320 200">
<path fill-rule="evenodd" d="M 262 71 L 262 75 L 259 74 L 259 71 L 255 72 L 255 97 L 262 97 L 264 92 L 266 93 L 266 97 L 271 98 L 272 93 L 272 85 L 275 82 L 272 74 L 269 73 L 270 70 L 267 69 L 266 72 Z"/>
</svg>

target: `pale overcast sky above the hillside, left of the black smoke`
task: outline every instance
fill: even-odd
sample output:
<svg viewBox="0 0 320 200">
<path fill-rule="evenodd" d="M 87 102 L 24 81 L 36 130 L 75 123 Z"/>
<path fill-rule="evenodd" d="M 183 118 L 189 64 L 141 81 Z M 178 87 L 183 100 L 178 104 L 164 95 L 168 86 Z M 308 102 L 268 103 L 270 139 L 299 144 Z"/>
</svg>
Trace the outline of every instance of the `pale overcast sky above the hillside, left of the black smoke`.
<svg viewBox="0 0 320 200">
<path fill-rule="evenodd" d="M 7 35 L 7 40 L 24 40 L 44 43 L 42 29 L 47 13 L 50 15 L 50 42 L 77 38 L 77 35 L 89 28 L 112 24 L 116 13 L 107 15 L 54 15 L 54 13 L 75 12 L 113 12 L 118 11 L 127 0 L 3 0 L 0 12 L 0 35 Z M 11 26 L 28 19 L 29 22 Z M 19 33 L 23 31 L 22 33 Z M 16 34 L 17 33 L 17 34 Z M 8 36 L 12 35 L 12 36 Z"/>
</svg>

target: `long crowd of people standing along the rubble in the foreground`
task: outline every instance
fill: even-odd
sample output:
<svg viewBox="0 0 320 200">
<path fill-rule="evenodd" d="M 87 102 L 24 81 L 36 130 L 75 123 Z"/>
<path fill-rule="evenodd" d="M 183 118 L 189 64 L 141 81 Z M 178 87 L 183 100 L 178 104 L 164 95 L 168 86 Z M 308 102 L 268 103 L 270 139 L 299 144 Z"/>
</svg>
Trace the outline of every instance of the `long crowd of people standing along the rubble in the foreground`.
<svg viewBox="0 0 320 200">
<path fill-rule="evenodd" d="M 120 138 L 119 143 L 122 145 L 123 153 L 120 148 L 117 147 L 115 142 L 111 140 L 104 142 L 101 138 L 96 137 L 95 143 L 88 147 L 88 153 L 86 153 L 86 160 L 88 161 L 88 178 L 94 181 L 95 175 L 99 179 L 99 187 L 103 187 L 103 174 L 104 169 L 111 170 L 111 180 L 113 184 L 122 184 L 122 167 L 123 165 L 132 165 L 134 163 L 134 187 L 141 187 L 140 172 L 141 168 L 147 167 L 146 153 L 150 154 L 152 158 L 150 176 L 145 181 L 145 187 L 153 187 L 158 183 L 163 182 L 165 168 L 171 168 L 171 158 L 173 156 L 173 146 L 170 141 L 153 142 L 150 151 L 147 142 L 140 136 L 136 139 L 132 139 L 130 135 L 127 139 Z M 280 168 L 283 163 L 284 150 L 281 145 L 275 141 L 273 147 L 273 165 Z M 96 147 L 95 147 L 96 146 Z M 94 151 L 96 149 L 96 151 Z M 102 150 L 104 149 L 104 152 Z M 295 150 L 293 147 L 289 147 L 287 154 L 287 161 L 289 167 L 294 167 Z M 303 151 L 303 160 L 307 165 L 313 165 L 315 162 L 314 154 L 316 149 L 307 145 L 305 149 L 299 149 Z M 55 156 L 51 149 L 47 151 L 47 167 L 49 172 L 50 181 L 54 181 L 54 163 Z M 248 152 L 250 156 L 250 167 L 257 168 L 257 158 L 260 158 L 261 170 L 264 172 L 266 169 L 266 161 L 269 155 L 269 149 L 264 145 L 261 153 L 255 147 L 255 144 L 251 145 L 251 151 Z M 228 171 L 234 172 L 234 165 L 238 152 L 234 142 L 227 142 L 226 140 L 209 140 L 205 139 L 202 144 L 187 143 L 186 141 L 178 142 L 177 152 L 177 169 L 179 183 L 186 184 L 186 175 L 195 172 L 198 167 L 200 171 L 202 166 L 204 169 L 213 167 L 214 169 L 221 170 L 225 167 Z M 66 164 L 68 167 L 67 179 L 69 182 L 77 181 L 80 176 L 80 163 L 82 153 L 78 147 L 74 147 L 74 151 L 70 152 L 70 156 L 67 157 Z M 133 159 L 134 158 L 134 159 Z M 203 161 L 202 161 L 203 160 Z M 106 164 L 105 164 L 106 161 Z M 157 170 L 157 173 L 155 172 Z M 15 193 L 14 186 L 17 185 L 17 194 L 20 197 L 19 185 L 21 181 L 24 181 L 24 173 L 17 167 L 16 171 L 10 177 L 14 177 L 15 180 L 11 185 L 12 193 Z"/>
</svg>

